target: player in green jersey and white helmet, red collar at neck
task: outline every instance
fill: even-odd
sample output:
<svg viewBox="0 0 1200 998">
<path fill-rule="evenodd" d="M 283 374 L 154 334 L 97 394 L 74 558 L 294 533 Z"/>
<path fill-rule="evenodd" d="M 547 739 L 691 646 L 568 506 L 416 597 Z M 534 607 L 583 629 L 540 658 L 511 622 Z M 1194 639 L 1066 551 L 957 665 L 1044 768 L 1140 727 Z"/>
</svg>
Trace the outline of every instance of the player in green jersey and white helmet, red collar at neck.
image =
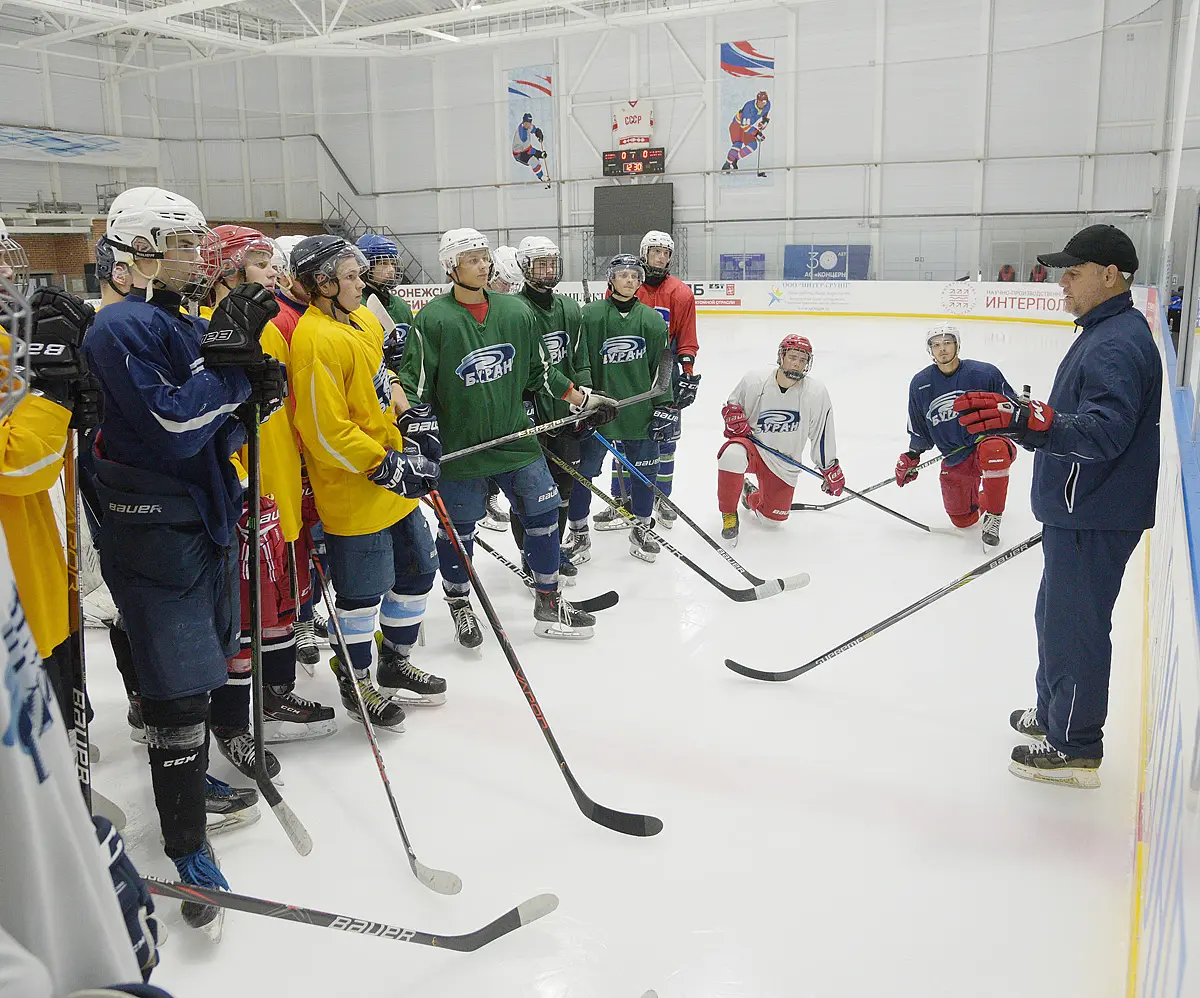
<svg viewBox="0 0 1200 998">
<path fill-rule="evenodd" d="M 410 399 L 433 407 L 448 451 L 527 429 L 522 403 L 527 390 L 570 403 L 571 413 L 611 411 L 612 399 L 571 384 L 551 365 L 526 302 L 486 290 L 492 271 L 486 236 L 475 229 L 451 229 L 442 236 L 438 259 L 454 287 L 416 313 L 401 377 Z M 575 609 L 558 591 L 559 495 L 534 438 L 443 467 L 439 491 L 467 555 L 490 477 L 526 529 L 524 557 L 536 584 L 534 633 L 592 637 L 595 618 Z M 470 606 L 467 570 L 442 529 L 438 554 L 457 641 L 478 648 L 484 636 Z"/>
</svg>

